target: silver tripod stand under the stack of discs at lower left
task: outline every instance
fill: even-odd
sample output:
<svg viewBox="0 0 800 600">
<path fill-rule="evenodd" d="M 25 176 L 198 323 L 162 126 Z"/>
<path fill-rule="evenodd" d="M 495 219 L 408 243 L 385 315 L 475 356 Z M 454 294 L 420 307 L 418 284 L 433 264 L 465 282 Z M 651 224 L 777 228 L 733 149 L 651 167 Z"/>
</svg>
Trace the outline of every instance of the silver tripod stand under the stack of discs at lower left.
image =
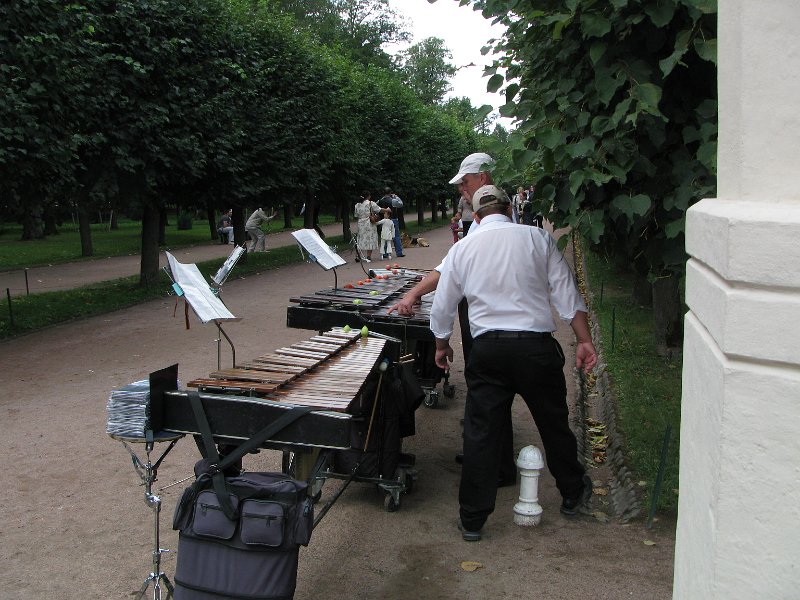
<svg viewBox="0 0 800 600">
<path fill-rule="evenodd" d="M 111 434 L 111 437 L 122 442 L 122 445 L 125 446 L 125 449 L 131 455 L 133 468 L 136 470 L 136 473 L 139 475 L 140 479 L 142 480 L 142 484 L 144 485 L 144 501 L 147 506 L 153 510 L 153 570 L 150 572 L 150 575 L 147 577 L 147 579 L 144 580 L 139 593 L 136 594 L 135 600 L 141 600 L 144 598 L 147 588 L 150 587 L 151 583 L 153 584 L 153 600 L 161 600 L 162 583 L 164 584 L 164 587 L 167 588 L 167 595 L 165 598 L 165 600 L 167 600 L 172 597 L 175 590 L 173 589 L 172 582 L 169 580 L 169 577 L 167 577 L 167 574 L 161 570 L 161 555 L 165 552 L 169 552 L 169 549 L 161 548 L 159 541 L 159 515 L 161 514 L 161 497 L 153 493 L 153 482 L 156 481 L 158 467 L 161 465 L 161 462 L 164 460 L 167 454 L 169 454 L 169 451 L 175 447 L 175 444 L 178 442 L 178 440 L 183 437 L 183 434 L 166 431 L 153 433 L 151 429 L 148 429 L 145 433 L 145 437 L 143 438 L 127 437 L 115 434 Z M 169 442 L 169 446 L 167 446 L 167 449 L 161 453 L 161 456 L 159 456 L 158 460 L 156 460 L 154 463 L 150 458 L 150 453 L 153 451 L 154 445 L 159 442 Z M 134 452 L 133 448 L 129 446 L 129 443 L 144 443 L 147 462 L 142 462 L 136 452 Z"/>
</svg>

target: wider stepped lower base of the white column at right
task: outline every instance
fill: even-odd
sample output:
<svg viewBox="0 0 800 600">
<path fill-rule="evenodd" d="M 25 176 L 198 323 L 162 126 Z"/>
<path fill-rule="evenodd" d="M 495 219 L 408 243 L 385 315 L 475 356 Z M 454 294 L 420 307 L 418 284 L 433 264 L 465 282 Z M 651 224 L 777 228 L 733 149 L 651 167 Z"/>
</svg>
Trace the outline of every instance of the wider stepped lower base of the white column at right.
<svg viewBox="0 0 800 600">
<path fill-rule="evenodd" d="M 749 267 L 732 257 L 746 240 L 724 250 L 707 235 L 729 231 L 746 205 L 707 200 L 687 215 L 687 246 L 713 262 L 687 265 L 676 599 L 800 598 L 797 269 L 776 271 L 774 286 L 745 281 Z M 798 226 L 770 237 L 791 265 Z"/>
</svg>

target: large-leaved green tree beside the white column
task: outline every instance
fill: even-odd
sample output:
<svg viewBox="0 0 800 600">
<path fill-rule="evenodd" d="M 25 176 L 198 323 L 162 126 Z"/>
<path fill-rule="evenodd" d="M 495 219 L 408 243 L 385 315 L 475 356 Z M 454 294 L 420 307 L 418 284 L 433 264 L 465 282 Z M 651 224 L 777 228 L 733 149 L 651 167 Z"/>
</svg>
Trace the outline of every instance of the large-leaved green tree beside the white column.
<svg viewBox="0 0 800 600">
<path fill-rule="evenodd" d="M 541 207 L 654 284 L 657 348 L 679 346 L 685 211 L 716 185 L 716 0 L 472 4 L 507 27 L 506 179 L 541 160 Z"/>
</svg>

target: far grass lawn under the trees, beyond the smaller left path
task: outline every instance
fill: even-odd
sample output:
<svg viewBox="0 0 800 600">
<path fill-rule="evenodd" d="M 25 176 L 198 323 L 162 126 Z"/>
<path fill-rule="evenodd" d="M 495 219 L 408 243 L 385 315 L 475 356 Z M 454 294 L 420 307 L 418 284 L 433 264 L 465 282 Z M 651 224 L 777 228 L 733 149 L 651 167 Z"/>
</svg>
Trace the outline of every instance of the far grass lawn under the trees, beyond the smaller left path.
<svg viewBox="0 0 800 600">
<path fill-rule="evenodd" d="M 191 229 L 178 230 L 177 219 L 170 216 L 165 237 L 168 248 L 180 248 L 195 244 L 207 244 L 211 234 L 206 221 L 194 221 Z M 320 215 L 320 223 L 333 223 L 332 216 Z M 282 221 L 281 221 L 282 225 Z M 303 219 L 297 217 L 292 221 L 294 229 L 303 226 Z M 271 224 L 269 231 L 282 231 L 278 225 Z M 93 260 L 107 256 L 126 256 L 141 252 L 140 221 L 120 219 L 119 229 L 108 230 L 108 224 L 92 225 L 92 248 L 94 256 L 81 257 L 81 238 L 78 226 L 65 223 L 59 228 L 58 235 L 48 236 L 43 240 L 22 241 L 22 226 L 16 224 L 3 225 L 0 232 L 0 271 L 12 271 L 25 267 L 54 265 L 75 260 Z"/>
</svg>

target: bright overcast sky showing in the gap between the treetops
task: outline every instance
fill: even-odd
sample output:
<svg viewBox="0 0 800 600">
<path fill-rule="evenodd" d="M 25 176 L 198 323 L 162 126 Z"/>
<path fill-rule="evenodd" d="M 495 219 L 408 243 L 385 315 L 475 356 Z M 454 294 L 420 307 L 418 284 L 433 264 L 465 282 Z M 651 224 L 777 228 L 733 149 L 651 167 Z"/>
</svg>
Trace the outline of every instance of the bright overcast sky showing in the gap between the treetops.
<svg viewBox="0 0 800 600">
<path fill-rule="evenodd" d="M 438 37 L 452 52 L 452 63 L 457 67 L 475 63 L 474 67 L 459 69 L 450 81 L 453 90 L 447 97 L 467 96 L 475 107 L 490 104 L 495 108 L 505 103 L 501 94 L 490 94 L 486 91 L 488 78 L 483 77 L 483 67 L 492 62 L 491 55 L 481 55 L 481 47 L 494 38 L 500 37 L 503 28 L 492 26 L 491 21 L 484 19 L 480 12 L 471 6 L 459 6 L 458 0 L 437 0 L 433 4 L 428 0 L 389 0 L 389 4 L 397 12 L 406 16 L 409 28 L 414 35 L 412 43 L 421 42 L 425 38 Z M 401 47 L 400 49 L 404 49 Z M 386 48 L 394 52 L 393 48 Z M 508 128 L 510 121 L 503 119 Z"/>
</svg>

